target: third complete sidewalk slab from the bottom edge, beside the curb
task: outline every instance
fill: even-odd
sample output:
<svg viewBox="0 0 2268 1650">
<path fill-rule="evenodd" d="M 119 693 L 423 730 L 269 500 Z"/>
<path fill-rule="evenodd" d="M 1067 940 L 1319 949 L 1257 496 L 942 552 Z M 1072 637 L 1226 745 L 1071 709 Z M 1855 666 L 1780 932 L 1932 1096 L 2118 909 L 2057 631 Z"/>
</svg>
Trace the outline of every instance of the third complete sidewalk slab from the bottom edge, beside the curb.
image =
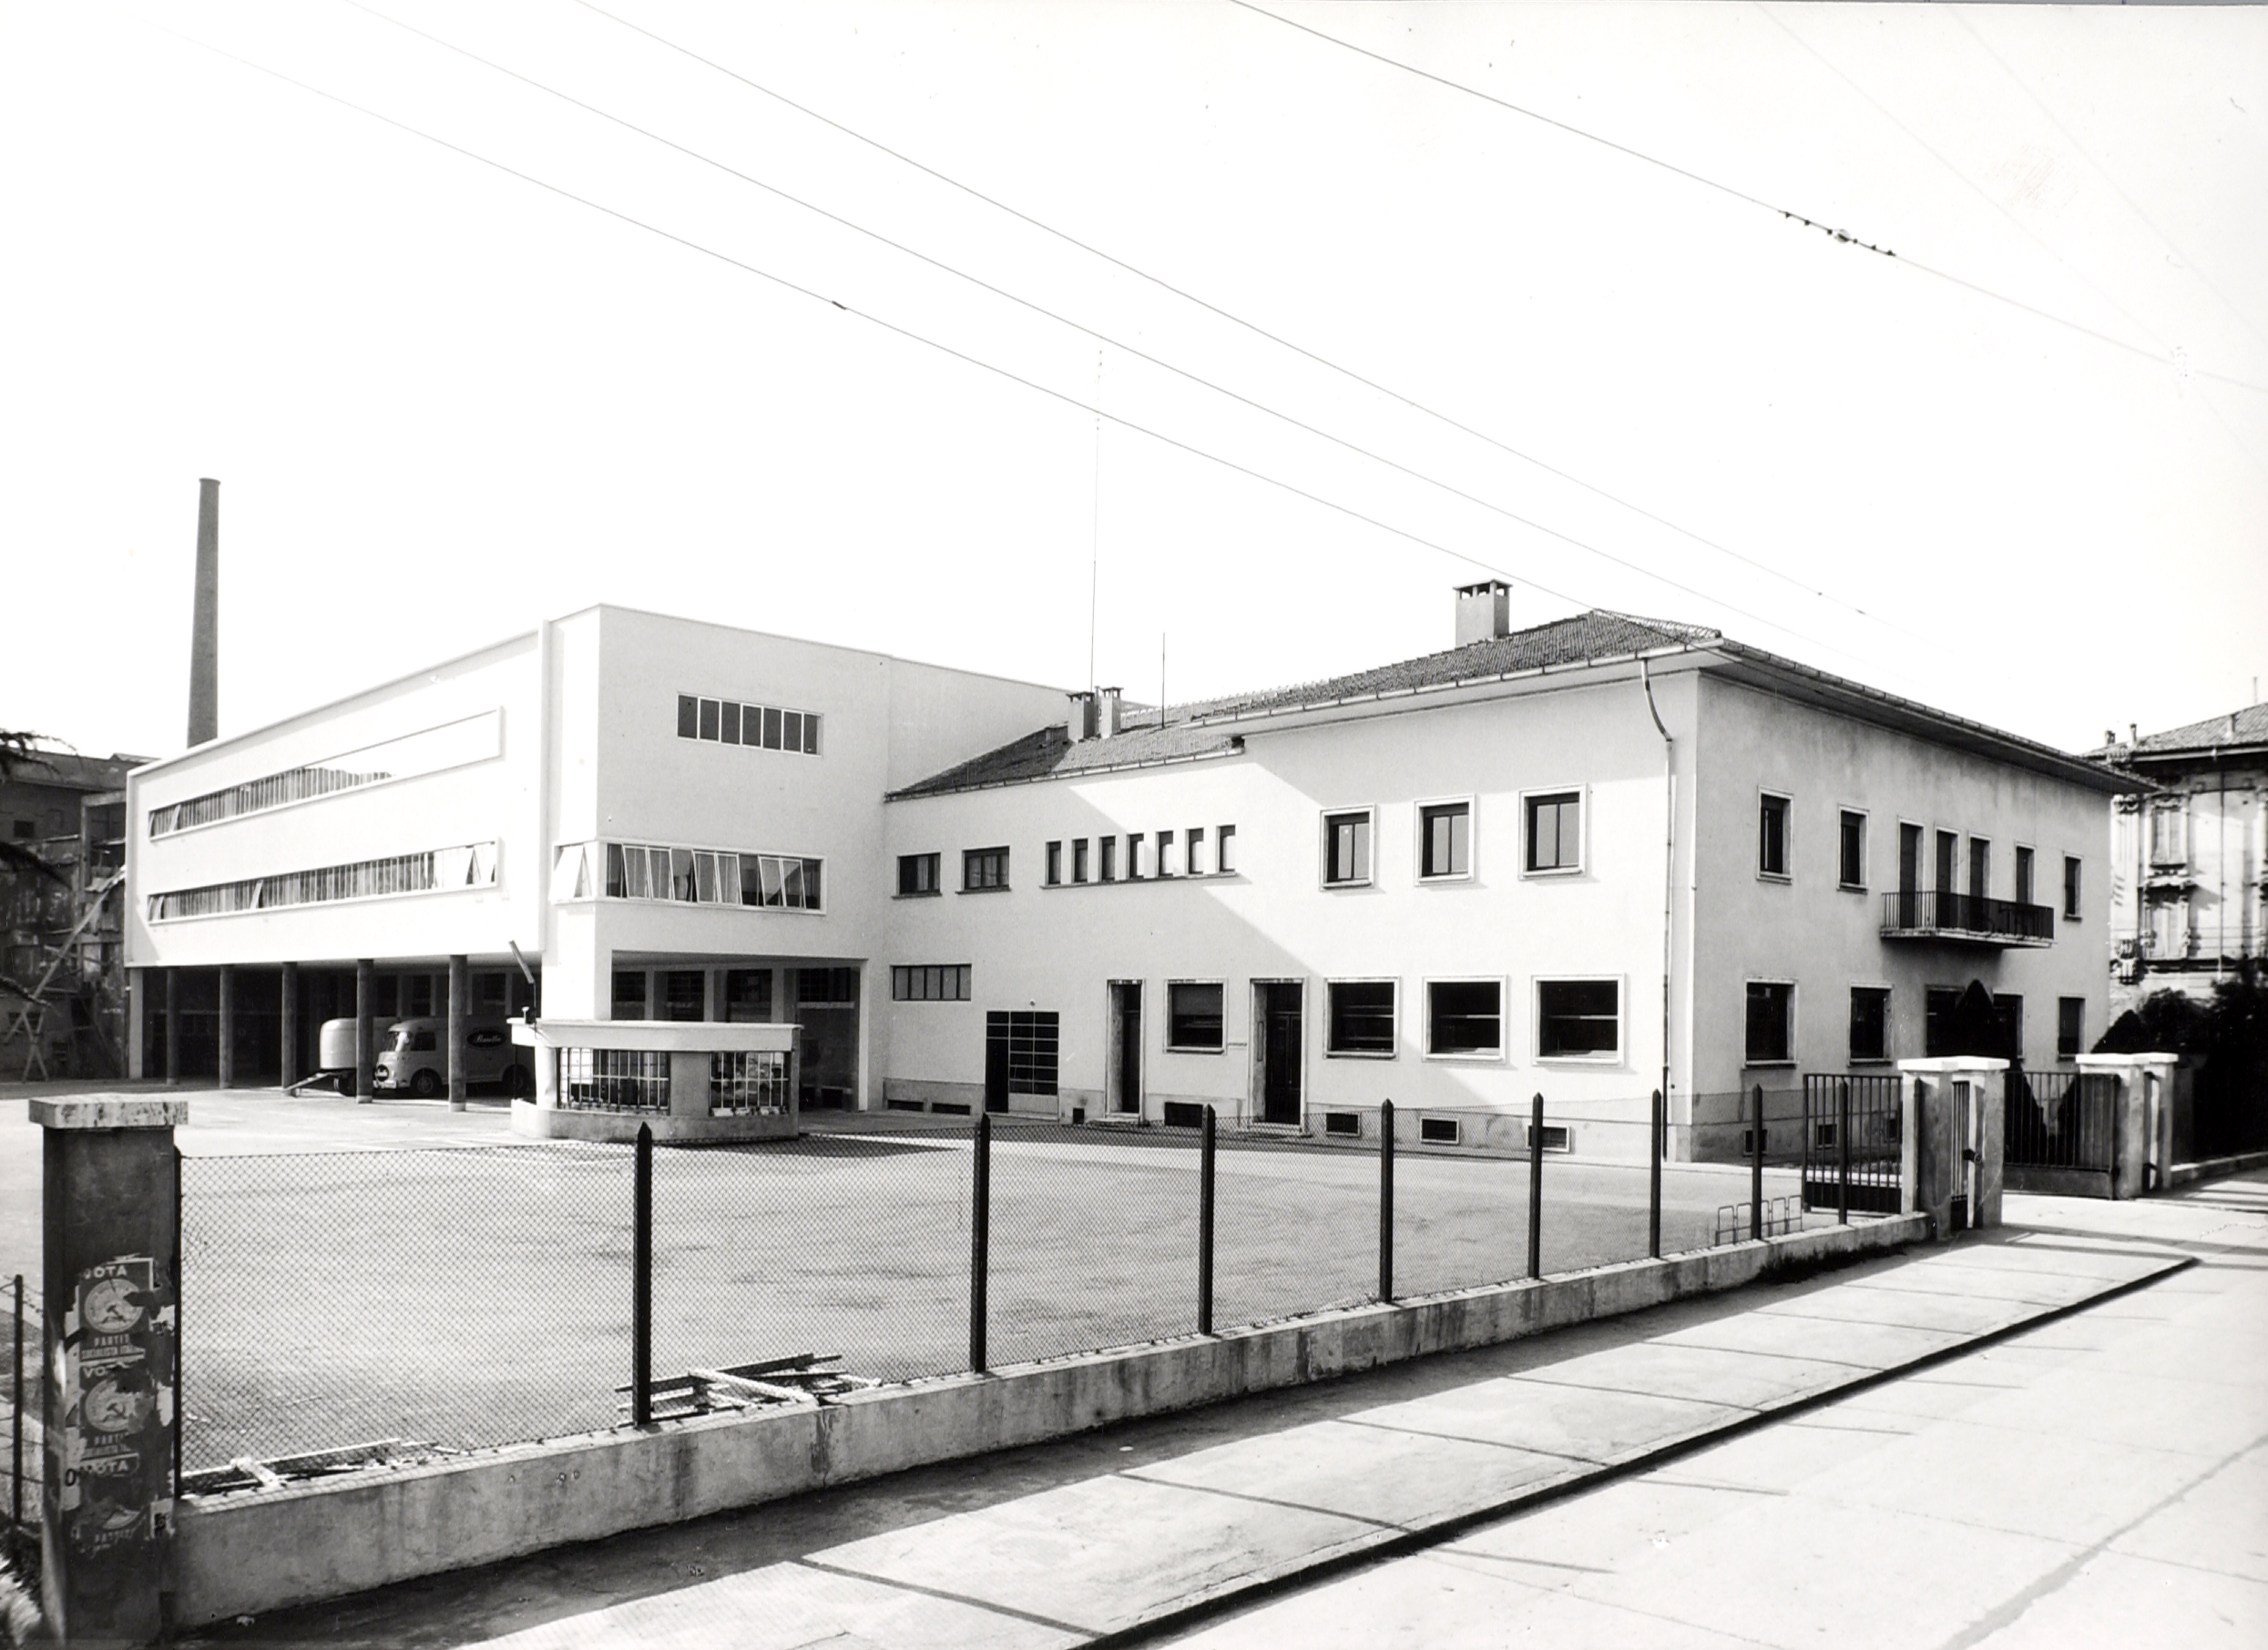
<svg viewBox="0 0 2268 1650">
<path fill-rule="evenodd" d="M 1504 1376 L 1427 1398 L 1359 1410 L 1343 1419 L 1404 1432 L 1510 1444 L 1569 1460 L 1617 1462 L 1699 1437 L 1728 1421 L 1744 1421 L 1749 1412 L 1728 1403 L 1597 1392 Z"/>
</svg>

